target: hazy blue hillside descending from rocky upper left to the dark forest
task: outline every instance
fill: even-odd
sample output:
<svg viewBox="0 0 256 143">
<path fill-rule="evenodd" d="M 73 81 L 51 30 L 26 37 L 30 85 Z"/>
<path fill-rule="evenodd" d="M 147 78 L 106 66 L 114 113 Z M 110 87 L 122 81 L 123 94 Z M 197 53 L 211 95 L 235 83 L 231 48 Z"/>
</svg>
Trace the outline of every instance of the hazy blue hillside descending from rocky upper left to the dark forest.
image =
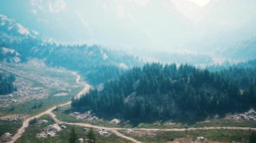
<svg viewBox="0 0 256 143">
<path fill-rule="evenodd" d="M 80 71 L 92 84 L 116 77 L 142 63 L 136 56 L 99 45 L 63 45 L 49 41 L 15 20 L 0 17 L 1 61 L 20 63 L 28 58 L 44 59 L 50 66 Z"/>
</svg>

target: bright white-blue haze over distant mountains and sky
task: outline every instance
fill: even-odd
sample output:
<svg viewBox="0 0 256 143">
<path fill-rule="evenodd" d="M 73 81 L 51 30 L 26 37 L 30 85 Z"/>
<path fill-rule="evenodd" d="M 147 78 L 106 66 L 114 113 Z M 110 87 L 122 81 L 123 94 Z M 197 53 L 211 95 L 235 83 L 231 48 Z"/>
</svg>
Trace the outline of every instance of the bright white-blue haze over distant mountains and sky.
<svg viewBox="0 0 256 143">
<path fill-rule="evenodd" d="M 63 43 L 215 53 L 256 33 L 254 0 L 1 1 L 1 14 Z"/>
</svg>

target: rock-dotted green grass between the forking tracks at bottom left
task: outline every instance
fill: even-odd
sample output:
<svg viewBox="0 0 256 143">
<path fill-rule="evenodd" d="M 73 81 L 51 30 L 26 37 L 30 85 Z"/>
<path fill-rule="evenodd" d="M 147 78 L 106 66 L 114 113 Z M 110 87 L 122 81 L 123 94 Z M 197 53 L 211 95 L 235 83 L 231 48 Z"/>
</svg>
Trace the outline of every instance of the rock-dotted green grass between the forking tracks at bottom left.
<svg viewBox="0 0 256 143">
<path fill-rule="evenodd" d="M 40 133 L 42 129 L 44 129 L 45 127 L 47 127 L 48 125 L 50 124 L 53 124 L 54 121 L 49 117 L 49 116 L 43 116 L 41 117 L 40 119 L 45 119 L 45 120 L 48 120 L 49 122 L 48 123 L 43 123 L 41 125 L 38 125 L 38 124 L 33 124 L 33 125 L 30 125 L 25 133 L 22 135 L 22 137 L 20 137 L 16 143 L 29 143 L 29 142 L 44 142 L 44 143 L 55 143 L 55 142 L 69 142 L 69 135 L 70 135 L 70 132 L 71 132 L 71 128 L 72 126 L 69 126 L 69 125 L 65 125 L 67 128 L 66 129 L 62 129 L 61 131 L 59 131 L 57 133 L 57 135 L 55 137 L 48 137 L 48 138 L 36 138 L 36 134 L 37 133 Z M 38 120 L 40 120 L 38 119 Z M 59 125 L 60 126 L 60 125 Z M 75 126 L 76 128 L 76 131 L 78 133 L 78 138 L 84 138 L 86 139 L 87 137 L 87 131 L 82 131 L 83 127 L 78 127 L 78 126 Z M 119 138 L 115 135 L 110 135 L 110 136 L 101 136 L 101 135 L 96 135 L 96 138 L 97 138 L 97 142 L 98 143 L 106 143 L 106 142 L 113 142 L 113 143 L 119 143 L 119 142 L 129 142 L 128 140 L 125 140 L 123 138 Z"/>
</svg>

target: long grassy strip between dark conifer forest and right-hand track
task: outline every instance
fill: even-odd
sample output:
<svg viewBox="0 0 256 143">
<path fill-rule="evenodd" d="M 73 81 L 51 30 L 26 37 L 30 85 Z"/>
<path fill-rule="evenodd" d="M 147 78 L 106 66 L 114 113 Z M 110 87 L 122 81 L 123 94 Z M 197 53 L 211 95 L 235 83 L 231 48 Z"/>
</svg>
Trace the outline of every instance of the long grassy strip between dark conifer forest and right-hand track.
<svg viewBox="0 0 256 143">
<path fill-rule="evenodd" d="M 93 125 L 99 125 L 104 127 L 123 127 L 123 128 L 159 128 L 159 129 L 166 129 L 166 128 L 190 128 L 190 127 L 251 127 L 256 128 L 256 122 L 253 121 L 236 121 L 233 119 L 230 120 L 210 120 L 208 122 L 199 122 L 193 124 L 185 124 L 185 123 L 172 123 L 172 120 L 162 122 L 157 121 L 154 123 L 140 123 L 137 126 L 133 126 L 132 124 L 111 124 L 108 120 L 99 120 L 99 121 L 82 121 L 77 120 L 74 116 L 70 115 L 73 111 L 71 110 L 70 105 L 60 107 L 54 113 L 56 114 L 57 118 L 61 121 L 66 122 L 80 122 L 80 123 L 89 123 Z"/>
</svg>

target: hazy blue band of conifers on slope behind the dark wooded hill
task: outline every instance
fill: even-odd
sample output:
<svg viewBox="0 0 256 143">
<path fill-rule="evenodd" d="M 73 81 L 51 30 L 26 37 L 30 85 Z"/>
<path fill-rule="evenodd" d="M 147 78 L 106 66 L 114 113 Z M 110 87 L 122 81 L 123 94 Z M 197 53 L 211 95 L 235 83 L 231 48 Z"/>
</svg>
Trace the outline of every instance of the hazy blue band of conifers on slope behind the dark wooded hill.
<svg viewBox="0 0 256 143">
<path fill-rule="evenodd" d="M 118 77 L 127 67 L 142 63 L 137 56 L 99 45 L 61 45 L 29 38 L 8 44 L 0 43 L 0 47 L 15 49 L 20 53 L 22 62 L 27 62 L 28 57 L 34 57 L 45 59 L 49 66 L 79 71 L 93 85 Z M 125 66 L 122 67 L 121 64 Z"/>
</svg>

